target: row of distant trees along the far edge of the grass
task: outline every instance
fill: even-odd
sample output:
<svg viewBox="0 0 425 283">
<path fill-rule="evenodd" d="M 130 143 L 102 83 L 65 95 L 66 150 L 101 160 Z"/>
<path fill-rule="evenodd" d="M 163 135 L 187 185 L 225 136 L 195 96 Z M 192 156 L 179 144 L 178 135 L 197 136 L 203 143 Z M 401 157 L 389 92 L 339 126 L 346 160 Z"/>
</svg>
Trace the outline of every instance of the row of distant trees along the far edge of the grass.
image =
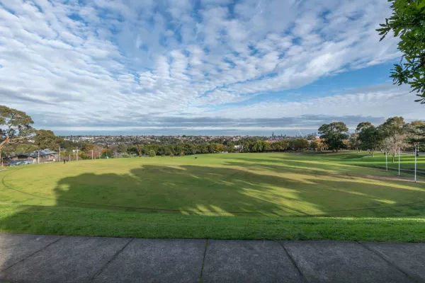
<svg viewBox="0 0 425 283">
<path fill-rule="evenodd" d="M 36 149 L 60 148 L 63 158 L 112 158 L 128 156 L 178 156 L 186 154 L 214 154 L 220 152 L 264 152 L 264 151 L 340 151 L 352 149 L 370 151 L 372 156 L 376 150 L 394 157 L 399 149 L 424 150 L 425 122 L 404 122 L 403 117 L 390 117 L 382 125 L 375 126 L 370 122 L 361 122 L 355 132 L 348 134 L 344 122 L 331 122 L 319 127 L 319 137 L 310 135 L 298 139 L 280 139 L 265 141 L 259 138 L 246 137 L 237 141 L 203 142 L 203 143 L 157 143 L 157 144 L 114 144 L 100 146 L 98 144 L 76 144 L 56 137 L 52 131 L 35 130 L 33 120 L 25 112 L 0 105 L 0 154 L 22 154 Z M 33 142 L 26 142 L 28 137 Z"/>
</svg>

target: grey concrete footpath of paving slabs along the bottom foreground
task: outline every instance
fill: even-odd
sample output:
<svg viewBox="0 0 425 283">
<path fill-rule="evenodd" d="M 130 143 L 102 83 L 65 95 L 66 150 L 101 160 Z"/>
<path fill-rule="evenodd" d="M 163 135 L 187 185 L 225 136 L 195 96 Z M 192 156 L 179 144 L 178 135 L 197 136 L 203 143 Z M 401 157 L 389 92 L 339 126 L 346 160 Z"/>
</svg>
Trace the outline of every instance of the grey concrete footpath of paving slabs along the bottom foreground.
<svg viewBox="0 0 425 283">
<path fill-rule="evenodd" d="M 0 282 L 425 282 L 425 243 L 0 233 Z"/>
</svg>

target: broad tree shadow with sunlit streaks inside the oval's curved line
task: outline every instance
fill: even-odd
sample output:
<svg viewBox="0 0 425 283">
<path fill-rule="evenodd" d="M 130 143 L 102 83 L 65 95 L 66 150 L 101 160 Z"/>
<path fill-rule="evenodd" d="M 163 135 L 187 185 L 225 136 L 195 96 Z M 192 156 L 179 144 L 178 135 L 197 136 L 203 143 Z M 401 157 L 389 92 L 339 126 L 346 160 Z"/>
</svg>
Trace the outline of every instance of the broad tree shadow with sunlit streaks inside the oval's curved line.
<svg viewBox="0 0 425 283">
<path fill-rule="evenodd" d="M 57 207 L 212 216 L 425 214 L 418 184 L 231 164 L 239 168 L 146 165 L 127 174 L 84 173 L 62 178 L 54 198 Z"/>
</svg>

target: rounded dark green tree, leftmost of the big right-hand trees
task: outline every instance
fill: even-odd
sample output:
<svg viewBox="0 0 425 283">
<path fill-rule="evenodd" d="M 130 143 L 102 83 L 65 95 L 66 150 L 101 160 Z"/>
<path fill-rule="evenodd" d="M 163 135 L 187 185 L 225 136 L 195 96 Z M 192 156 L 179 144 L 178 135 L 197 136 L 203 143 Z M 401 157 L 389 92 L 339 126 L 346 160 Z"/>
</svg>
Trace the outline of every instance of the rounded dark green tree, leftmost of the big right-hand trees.
<svg viewBox="0 0 425 283">
<path fill-rule="evenodd" d="M 348 139 L 347 132 L 348 127 L 344 122 L 331 122 L 319 127 L 320 138 L 329 145 L 329 149 L 336 152 L 345 148 L 344 139 Z"/>
</svg>

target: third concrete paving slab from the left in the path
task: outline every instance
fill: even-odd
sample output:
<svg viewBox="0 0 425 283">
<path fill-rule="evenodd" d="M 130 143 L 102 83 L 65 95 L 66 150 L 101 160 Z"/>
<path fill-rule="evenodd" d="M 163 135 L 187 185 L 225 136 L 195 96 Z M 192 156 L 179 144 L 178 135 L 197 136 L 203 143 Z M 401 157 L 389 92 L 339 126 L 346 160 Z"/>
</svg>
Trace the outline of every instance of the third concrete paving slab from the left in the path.
<svg viewBox="0 0 425 283">
<path fill-rule="evenodd" d="M 94 282 L 199 282 L 205 240 L 135 239 Z"/>
</svg>

